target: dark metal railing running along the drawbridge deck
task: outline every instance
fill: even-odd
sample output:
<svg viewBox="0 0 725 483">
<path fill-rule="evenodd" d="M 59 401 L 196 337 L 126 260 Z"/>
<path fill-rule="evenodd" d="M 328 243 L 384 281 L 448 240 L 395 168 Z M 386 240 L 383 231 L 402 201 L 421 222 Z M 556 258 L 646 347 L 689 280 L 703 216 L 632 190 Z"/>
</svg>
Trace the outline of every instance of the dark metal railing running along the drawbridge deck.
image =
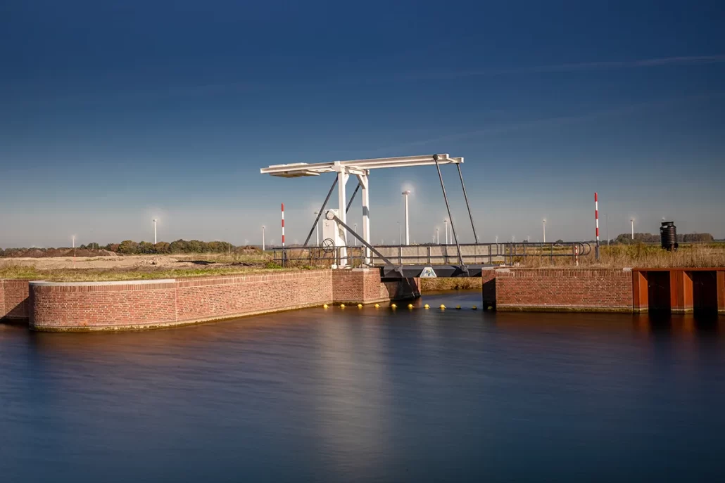
<svg viewBox="0 0 725 483">
<path fill-rule="evenodd" d="M 341 256 L 343 247 L 286 247 L 271 248 L 268 253 L 282 266 L 333 266 L 342 262 L 349 266 L 365 265 L 365 250 L 361 246 L 348 246 L 347 256 Z M 457 265 L 456 245 L 375 245 L 376 250 L 397 265 Z M 578 256 L 587 256 L 592 250 L 589 243 L 464 243 L 460 245 L 461 259 L 466 265 L 513 265 L 527 259 L 560 259 L 568 257 L 576 263 Z M 376 253 L 369 253 L 370 265 L 383 266 L 386 261 Z"/>
</svg>

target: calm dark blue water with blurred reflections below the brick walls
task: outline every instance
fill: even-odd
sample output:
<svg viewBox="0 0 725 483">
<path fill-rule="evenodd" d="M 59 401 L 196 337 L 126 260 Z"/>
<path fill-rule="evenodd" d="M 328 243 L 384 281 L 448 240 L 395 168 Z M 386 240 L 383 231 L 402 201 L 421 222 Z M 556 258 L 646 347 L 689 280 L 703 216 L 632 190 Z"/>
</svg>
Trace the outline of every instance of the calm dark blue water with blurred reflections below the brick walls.
<svg viewBox="0 0 725 483">
<path fill-rule="evenodd" d="M 723 458 L 722 317 L 313 308 L 121 334 L 0 325 L 2 482 L 712 481 Z"/>
</svg>

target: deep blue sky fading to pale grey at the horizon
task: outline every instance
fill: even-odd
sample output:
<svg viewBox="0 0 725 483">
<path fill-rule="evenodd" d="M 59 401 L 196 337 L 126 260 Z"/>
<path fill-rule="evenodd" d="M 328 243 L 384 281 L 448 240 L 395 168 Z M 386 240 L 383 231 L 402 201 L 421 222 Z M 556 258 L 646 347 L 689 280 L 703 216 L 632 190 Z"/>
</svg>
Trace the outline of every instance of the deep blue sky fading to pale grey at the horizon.
<svg viewBox="0 0 725 483">
<path fill-rule="evenodd" d="M 433 153 L 465 157 L 487 241 L 542 218 L 593 238 L 595 190 L 612 238 L 630 217 L 725 237 L 724 20 L 722 1 L 4 0 L 0 246 L 150 240 L 152 217 L 162 240 L 278 242 L 281 202 L 302 241 L 333 178 L 260 167 Z M 376 243 L 402 188 L 412 238 L 442 228 L 433 167 L 370 181 Z"/>
</svg>

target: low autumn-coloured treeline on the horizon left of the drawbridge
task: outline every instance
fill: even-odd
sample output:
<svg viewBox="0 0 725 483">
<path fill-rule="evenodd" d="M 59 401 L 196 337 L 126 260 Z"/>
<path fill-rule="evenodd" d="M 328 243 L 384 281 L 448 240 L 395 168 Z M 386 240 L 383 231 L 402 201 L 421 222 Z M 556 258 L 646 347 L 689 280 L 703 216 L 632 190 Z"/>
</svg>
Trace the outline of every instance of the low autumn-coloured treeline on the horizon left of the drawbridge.
<svg viewBox="0 0 725 483">
<path fill-rule="evenodd" d="M 78 256 L 97 256 L 120 253 L 123 255 L 141 254 L 171 254 L 171 253 L 239 253 L 249 250 L 257 250 L 256 247 L 244 245 L 236 246 L 225 241 L 204 242 L 200 240 L 176 240 L 174 242 L 135 242 L 124 240 L 121 243 L 88 243 L 79 245 L 76 248 Z M 108 253 L 112 252 L 112 253 Z M 68 256 L 72 255 L 72 248 L 0 248 L 0 256 L 5 257 L 43 257 L 43 256 Z"/>
</svg>

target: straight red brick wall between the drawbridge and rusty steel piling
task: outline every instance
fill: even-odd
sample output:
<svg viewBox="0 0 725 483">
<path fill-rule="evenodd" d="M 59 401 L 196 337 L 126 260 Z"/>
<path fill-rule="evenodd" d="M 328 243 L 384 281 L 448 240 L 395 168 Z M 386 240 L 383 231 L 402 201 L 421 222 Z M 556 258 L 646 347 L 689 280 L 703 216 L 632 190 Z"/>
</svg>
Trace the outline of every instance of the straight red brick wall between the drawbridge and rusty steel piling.
<svg viewBox="0 0 725 483">
<path fill-rule="evenodd" d="M 497 269 L 495 272 L 497 310 L 633 310 L 629 269 Z"/>
</svg>

